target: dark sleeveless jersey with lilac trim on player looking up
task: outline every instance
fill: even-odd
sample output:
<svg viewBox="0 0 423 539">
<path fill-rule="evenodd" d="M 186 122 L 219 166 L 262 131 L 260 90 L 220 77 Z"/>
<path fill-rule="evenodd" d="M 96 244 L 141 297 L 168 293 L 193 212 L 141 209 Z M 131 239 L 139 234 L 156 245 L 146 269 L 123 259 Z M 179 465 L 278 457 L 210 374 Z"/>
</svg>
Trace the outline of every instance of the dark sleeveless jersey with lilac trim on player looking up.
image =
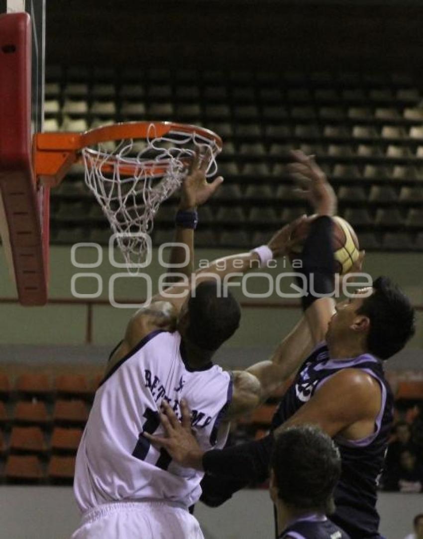
<svg viewBox="0 0 423 539">
<path fill-rule="evenodd" d="M 382 406 L 376 418 L 375 432 L 362 440 L 334 438 L 342 459 L 342 473 L 335 489 L 336 512 L 331 520 L 351 539 L 378 538 L 379 515 L 376 511 L 377 485 L 385 458 L 392 425 L 393 396 L 385 381 L 382 361 L 370 354 L 332 361 L 325 343 L 302 364 L 293 384 L 283 396 L 272 421 L 280 426 L 308 402 L 328 378 L 345 368 L 355 368 L 376 378 L 382 389 Z"/>
</svg>

